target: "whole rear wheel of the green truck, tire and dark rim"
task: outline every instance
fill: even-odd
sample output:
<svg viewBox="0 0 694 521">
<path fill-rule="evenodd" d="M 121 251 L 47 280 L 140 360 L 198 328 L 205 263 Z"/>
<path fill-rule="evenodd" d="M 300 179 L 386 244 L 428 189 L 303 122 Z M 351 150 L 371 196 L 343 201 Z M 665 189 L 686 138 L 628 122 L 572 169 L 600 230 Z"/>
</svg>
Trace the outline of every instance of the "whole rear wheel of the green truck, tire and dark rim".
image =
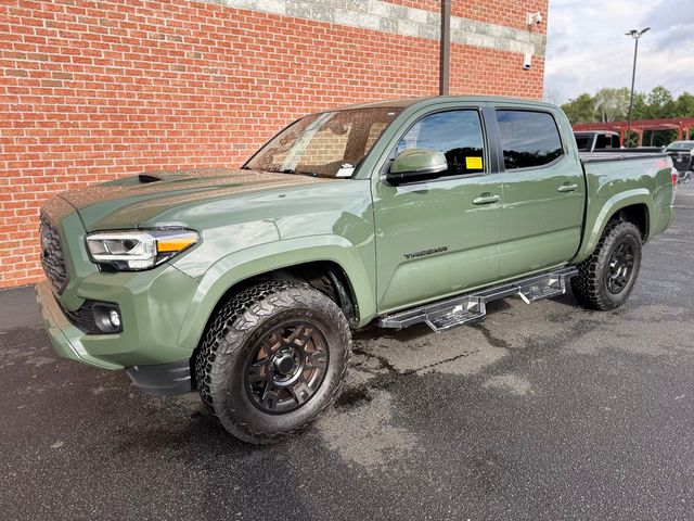
<svg viewBox="0 0 694 521">
<path fill-rule="evenodd" d="M 590 309 L 614 309 L 629 297 L 640 267 L 639 229 L 631 223 L 614 220 L 605 227 L 591 256 L 578 265 L 571 289 Z"/>
</svg>

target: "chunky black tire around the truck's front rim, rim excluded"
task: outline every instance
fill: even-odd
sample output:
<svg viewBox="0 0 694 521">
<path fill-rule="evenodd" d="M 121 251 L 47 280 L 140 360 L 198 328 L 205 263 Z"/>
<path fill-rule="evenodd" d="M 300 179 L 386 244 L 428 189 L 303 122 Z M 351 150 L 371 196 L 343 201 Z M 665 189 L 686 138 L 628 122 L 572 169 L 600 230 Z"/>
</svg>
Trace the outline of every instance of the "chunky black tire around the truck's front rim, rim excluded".
<svg viewBox="0 0 694 521">
<path fill-rule="evenodd" d="M 324 377 L 299 408 L 267 414 L 248 396 L 244 371 L 259 339 L 294 318 L 316 325 L 327 341 Z M 333 403 L 350 355 L 349 325 L 331 298 L 308 284 L 267 282 L 244 290 L 218 310 L 193 364 L 200 395 L 224 429 L 245 442 L 268 444 L 306 429 Z"/>
</svg>

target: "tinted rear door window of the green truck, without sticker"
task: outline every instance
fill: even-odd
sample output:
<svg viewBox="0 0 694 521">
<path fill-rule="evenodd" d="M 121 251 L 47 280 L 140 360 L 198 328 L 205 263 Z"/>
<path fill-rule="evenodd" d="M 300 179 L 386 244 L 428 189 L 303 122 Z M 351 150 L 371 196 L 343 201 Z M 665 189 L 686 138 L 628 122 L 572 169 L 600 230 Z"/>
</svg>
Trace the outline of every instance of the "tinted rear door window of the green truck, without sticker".
<svg viewBox="0 0 694 521">
<path fill-rule="evenodd" d="M 497 111 L 506 170 L 552 163 L 564 154 L 556 123 L 545 112 Z"/>
</svg>

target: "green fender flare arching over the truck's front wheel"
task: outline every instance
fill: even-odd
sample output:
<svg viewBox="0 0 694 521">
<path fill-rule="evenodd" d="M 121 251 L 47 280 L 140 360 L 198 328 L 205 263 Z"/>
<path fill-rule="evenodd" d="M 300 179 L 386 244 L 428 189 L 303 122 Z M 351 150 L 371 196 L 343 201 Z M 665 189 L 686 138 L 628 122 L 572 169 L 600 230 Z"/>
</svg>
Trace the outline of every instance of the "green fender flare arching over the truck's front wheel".
<svg viewBox="0 0 694 521">
<path fill-rule="evenodd" d="M 376 316 L 375 291 L 357 250 L 337 236 L 312 236 L 259 244 L 215 263 L 200 279 L 181 325 L 179 345 L 197 347 L 215 307 L 239 282 L 282 268 L 326 260 L 343 269 L 359 309 L 358 327 L 365 325 Z"/>
</svg>

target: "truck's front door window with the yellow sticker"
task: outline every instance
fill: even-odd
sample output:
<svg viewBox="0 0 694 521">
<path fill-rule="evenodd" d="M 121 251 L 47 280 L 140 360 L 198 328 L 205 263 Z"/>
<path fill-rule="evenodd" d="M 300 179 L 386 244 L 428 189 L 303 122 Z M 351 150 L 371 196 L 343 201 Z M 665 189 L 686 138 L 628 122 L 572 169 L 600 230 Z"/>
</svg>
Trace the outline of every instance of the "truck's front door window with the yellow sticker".
<svg viewBox="0 0 694 521">
<path fill-rule="evenodd" d="M 438 112 L 414 124 L 398 143 L 408 149 L 434 149 L 448 161 L 447 176 L 485 171 L 485 145 L 479 113 L 475 110 Z"/>
</svg>

